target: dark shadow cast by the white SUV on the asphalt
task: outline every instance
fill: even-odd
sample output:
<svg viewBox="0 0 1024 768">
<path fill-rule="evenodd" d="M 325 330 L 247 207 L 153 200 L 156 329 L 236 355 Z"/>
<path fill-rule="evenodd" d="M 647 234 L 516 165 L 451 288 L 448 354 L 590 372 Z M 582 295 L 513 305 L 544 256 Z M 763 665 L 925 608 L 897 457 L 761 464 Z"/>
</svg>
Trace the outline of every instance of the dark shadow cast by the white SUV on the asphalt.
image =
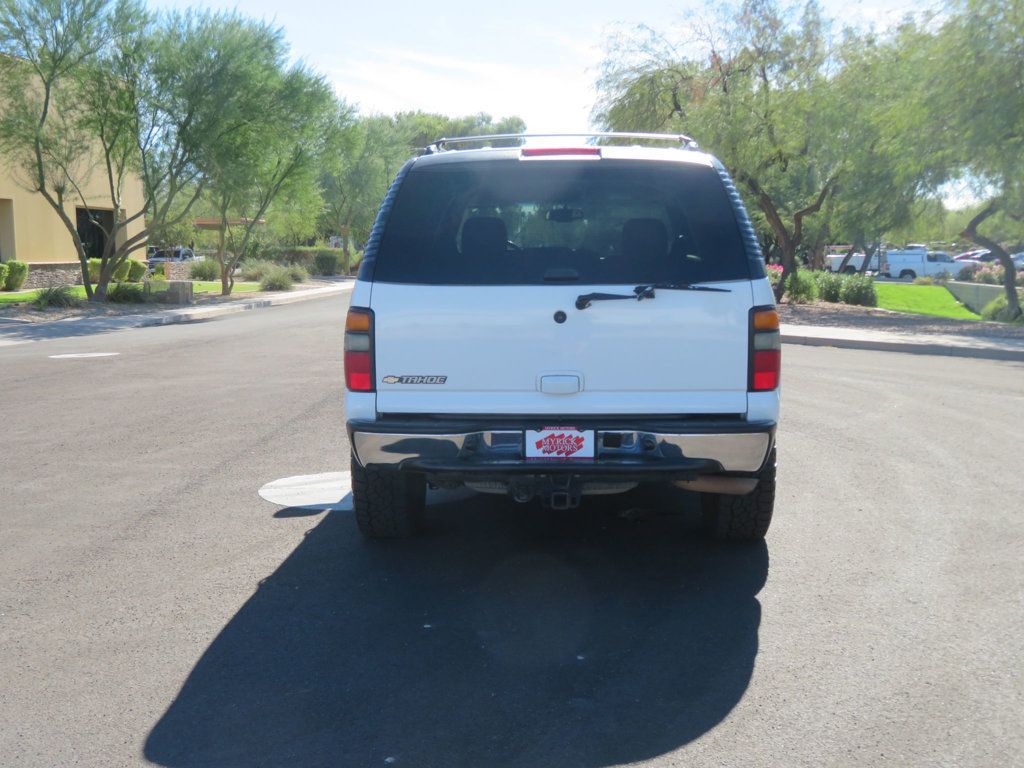
<svg viewBox="0 0 1024 768">
<path fill-rule="evenodd" d="M 558 513 L 472 497 L 382 543 L 329 512 L 199 659 L 145 757 L 606 766 L 697 738 L 750 683 L 768 550 L 709 542 L 693 497 L 657 494 Z M 680 512 L 643 511 L 667 504 Z"/>
</svg>

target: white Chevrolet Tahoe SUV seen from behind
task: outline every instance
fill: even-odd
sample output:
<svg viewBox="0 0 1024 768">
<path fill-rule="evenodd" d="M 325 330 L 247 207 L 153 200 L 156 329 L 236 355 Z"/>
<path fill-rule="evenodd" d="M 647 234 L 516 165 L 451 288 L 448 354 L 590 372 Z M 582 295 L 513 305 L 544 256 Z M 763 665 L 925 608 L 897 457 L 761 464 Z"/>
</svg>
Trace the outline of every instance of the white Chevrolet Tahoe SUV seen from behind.
<svg viewBox="0 0 1024 768">
<path fill-rule="evenodd" d="M 587 136 L 444 139 L 395 178 L 345 327 L 366 536 L 413 534 L 427 483 L 565 509 L 672 482 L 715 536 L 767 531 L 778 315 L 739 196 L 686 136 Z"/>
</svg>

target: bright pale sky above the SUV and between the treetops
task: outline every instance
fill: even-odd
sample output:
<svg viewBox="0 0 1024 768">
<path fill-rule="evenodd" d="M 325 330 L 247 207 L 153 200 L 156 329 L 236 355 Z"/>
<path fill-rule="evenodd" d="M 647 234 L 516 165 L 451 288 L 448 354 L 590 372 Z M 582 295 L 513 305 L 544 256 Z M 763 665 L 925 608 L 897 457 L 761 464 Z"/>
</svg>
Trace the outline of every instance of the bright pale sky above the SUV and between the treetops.
<svg viewBox="0 0 1024 768">
<path fill-rule="evenodd" d="M 151 7 L 197 5 L 154 0 Z M 923 3 L 824 0 L 842 23 L 884 28 Z M 325 3 L 212 0 L 285 29 L 293 53 L 325 75 L 360 112 L 423 110 L 517 115 L 531 132 L 592 128 L 594 83 L 615 31 L 647 25 L 685 34 L 700 0 L 476 0 Z"/>
</svg>

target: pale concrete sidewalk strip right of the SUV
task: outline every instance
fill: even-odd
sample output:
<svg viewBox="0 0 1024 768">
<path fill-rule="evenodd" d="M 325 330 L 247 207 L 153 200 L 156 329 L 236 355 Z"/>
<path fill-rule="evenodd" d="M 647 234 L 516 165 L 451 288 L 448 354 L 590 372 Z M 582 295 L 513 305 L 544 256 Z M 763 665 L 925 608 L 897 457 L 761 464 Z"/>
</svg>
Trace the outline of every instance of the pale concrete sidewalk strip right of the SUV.
<svg viewBox="0 0 1024 768">
<path fill-rule="evenodd" d="M 782 343 L 808 346 L 872 349 L 911 354 L 1024 360 L 1024 340 L 979 338 L 952 334 L 894 333 L 827 326 L 782 325 Z"/>
</svg>

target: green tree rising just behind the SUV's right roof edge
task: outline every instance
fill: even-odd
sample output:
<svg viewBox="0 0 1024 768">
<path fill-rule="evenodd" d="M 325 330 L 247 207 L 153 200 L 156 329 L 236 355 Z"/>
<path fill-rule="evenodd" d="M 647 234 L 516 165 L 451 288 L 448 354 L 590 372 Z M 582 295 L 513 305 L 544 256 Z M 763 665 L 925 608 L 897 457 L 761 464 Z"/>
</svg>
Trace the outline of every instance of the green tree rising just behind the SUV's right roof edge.
<svg viewBox="0 0 1024 768">
<path fill-rule="evenodd" d="M 850 105 L 829 82 L 817 4 L 792 16 L 774 0 L 745 0 L 687 48 L 698 53 L 649 30 L 614 41 L 596 111 L 608 129 L 686 133 L 714 152 L 760 210 L 783 276 L 796 268 L 807 219 L 836 191 L 850 125 Z"/>
</svg>

